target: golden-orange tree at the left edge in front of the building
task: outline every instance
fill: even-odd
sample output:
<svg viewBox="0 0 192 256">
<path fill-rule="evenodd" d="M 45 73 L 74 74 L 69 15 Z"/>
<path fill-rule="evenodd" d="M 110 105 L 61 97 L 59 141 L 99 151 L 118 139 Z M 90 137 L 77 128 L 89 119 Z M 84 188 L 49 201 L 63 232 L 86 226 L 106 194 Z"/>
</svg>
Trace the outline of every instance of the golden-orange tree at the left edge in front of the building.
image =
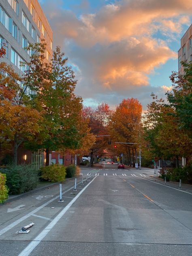
<svg viewBox="0 0 192 256">
<path fill-rule="evenodd" d="M 21 64 L 22 65 L 22 64 Z M 13 145 L 14 163 L 17 164 L 17 149 L 26 140 L 32 140 L 40 132 L 41 115 L 32 109 L 23 85 L 11 65 L 0 63 L 0 143 Z"/>
</svg>

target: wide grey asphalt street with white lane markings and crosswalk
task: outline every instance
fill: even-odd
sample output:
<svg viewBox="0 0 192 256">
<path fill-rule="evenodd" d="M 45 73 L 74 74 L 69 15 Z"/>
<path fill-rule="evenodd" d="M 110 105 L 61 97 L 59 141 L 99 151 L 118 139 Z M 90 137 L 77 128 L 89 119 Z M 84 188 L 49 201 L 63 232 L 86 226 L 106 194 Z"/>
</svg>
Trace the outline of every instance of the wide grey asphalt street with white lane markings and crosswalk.
<svg viewBox="0 0 192 256">
<path fill-rule="evenodd" d="M 81 173 L 76 190 L 62 185 L 64 202 L 56 184 L 0 206 L 0 256 L 192 255 L 190 186 L 115 164 Z"/>
</svg>

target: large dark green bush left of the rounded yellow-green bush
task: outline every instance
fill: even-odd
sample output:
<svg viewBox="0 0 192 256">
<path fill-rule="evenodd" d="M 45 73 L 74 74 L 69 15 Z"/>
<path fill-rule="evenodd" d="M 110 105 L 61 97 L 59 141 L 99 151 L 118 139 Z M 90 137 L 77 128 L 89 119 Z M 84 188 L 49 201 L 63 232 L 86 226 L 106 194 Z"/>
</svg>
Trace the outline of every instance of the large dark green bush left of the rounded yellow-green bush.
<svg viewBox="0 0 192 256">
<path fill-rule="evenodd" d="M 36 188 L 38 184 L 39 173 L 32 164 L 7 166 L 1 172 L 6 174 L 9 194 L 22 194 Z"/>
</svg>

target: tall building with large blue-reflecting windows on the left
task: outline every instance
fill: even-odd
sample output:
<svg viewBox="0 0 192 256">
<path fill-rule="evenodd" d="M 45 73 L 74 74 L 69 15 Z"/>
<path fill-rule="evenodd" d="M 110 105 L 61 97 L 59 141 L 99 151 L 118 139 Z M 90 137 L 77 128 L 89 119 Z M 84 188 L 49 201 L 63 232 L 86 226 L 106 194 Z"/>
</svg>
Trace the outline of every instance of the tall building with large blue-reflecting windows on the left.
<svg viewBox="0 0 192 256">
<path fill-rule="evenodd" d="M 0 1 L 0 44 L 6 47 L 6 56 L 0 61 L 12 64 L 17 73 L 23 71 L 20 61 L 30 60 L 28 43 L 47 43 L 46 60 L 52 56 L 53 32 L 37 0 Z"/>
</svg>

